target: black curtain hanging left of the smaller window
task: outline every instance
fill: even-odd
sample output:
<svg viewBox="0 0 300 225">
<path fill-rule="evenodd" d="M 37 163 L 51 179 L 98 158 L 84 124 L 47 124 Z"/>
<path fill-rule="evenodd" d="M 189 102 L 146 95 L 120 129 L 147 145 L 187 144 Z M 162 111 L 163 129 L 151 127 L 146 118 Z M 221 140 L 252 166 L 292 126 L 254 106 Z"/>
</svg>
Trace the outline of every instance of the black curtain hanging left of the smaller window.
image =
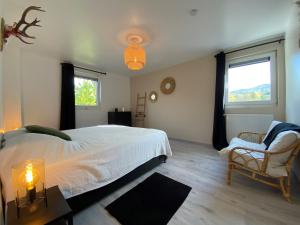
<svg viewBox="0 0 300 225">
<path fill-rule="evenodd" d="M 62 63 L 60 129 L 75 129 L 74 66 Z"/>
</svg>

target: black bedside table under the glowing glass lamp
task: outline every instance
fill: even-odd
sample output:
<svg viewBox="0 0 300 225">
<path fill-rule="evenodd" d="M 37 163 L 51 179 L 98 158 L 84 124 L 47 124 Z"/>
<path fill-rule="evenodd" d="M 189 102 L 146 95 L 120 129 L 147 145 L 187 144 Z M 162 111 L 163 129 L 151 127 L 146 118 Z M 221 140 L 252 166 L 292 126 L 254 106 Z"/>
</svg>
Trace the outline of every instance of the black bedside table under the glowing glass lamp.
<svg viewBox="0 0 300 225">
<path fill-rule="evenodd" d="M 44 201 L 39 204 L 37 211 L 30 213 L 28 208 L 20 210 L 17 216 L 16 204 L 11 201 L 7 204 L 7 225 L 73 225 L 73 213 L 59 190 L 58 186 L 47 189 L 46 208 Z"/>
</svg>

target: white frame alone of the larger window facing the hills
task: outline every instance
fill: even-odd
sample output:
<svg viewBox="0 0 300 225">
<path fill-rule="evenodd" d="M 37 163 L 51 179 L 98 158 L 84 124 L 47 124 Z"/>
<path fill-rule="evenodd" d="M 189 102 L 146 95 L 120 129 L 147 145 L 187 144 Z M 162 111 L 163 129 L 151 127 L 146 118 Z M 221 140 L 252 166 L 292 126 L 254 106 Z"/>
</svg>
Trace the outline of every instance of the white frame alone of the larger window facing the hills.
<svg viewBox="0 0 300 225">
<path fill-rule="evenodd" d="M 263 58 L 270 58 L 271 65 L 271 100 L 268 101 L 244 101 L 244 102 L 229 102 L 228 101 L 228 71 L 230 65 L 246 63 L 249 61 L 260 60 Z M 276 51 L 269 51 L 267 53 L 262 54 L 254 54 L 251 56 L 242 56 L 239 58 L 234 58 L 230 60 L 226 60 L 225 67 L 225 84 L 224 84 L 224 104 L 227 108 L 235 108 L 235 107 L 259 107 L 259 106 L 269 106 L 276 104 L 278 102 L 277 99 L 277 57 Z"/>
</svg>

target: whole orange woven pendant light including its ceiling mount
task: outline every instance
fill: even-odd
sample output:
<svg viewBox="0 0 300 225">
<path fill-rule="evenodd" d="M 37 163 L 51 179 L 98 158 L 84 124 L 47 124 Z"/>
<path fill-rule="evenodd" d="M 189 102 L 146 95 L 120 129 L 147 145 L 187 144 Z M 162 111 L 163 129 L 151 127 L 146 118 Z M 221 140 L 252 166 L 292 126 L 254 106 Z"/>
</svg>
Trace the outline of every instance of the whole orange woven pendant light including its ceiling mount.
<svg viewBox="0 0 300 225">
<path fill-rule="evenodd" d="M 127 37 L 128 47 L 124 51 L 124 60 L 128 69 L 141 70 L 146 64 L 146 52 L 142 47 L 144 42 L 140 35 L 129 35 Z"/>
</svg>

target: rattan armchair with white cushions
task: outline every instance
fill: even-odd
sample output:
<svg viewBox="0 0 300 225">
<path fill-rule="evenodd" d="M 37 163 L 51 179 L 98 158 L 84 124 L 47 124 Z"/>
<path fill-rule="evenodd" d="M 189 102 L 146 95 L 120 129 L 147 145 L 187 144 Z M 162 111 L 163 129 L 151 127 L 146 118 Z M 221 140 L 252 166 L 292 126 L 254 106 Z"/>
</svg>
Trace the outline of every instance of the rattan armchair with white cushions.
<svg viewBox="0 0 300 225">
<path fill-rule="evenodd" d="M 291 170 L 300 151 L 299 136 L 292 131 L 282 132 L 268 150 L 262 143 L 264 134 L 240 133 L 230 146 L 221 150 L 228 157 L 227 184 L 231 185 L 232 172 L 249 177 L 281 190 L 291 201 Z"/>
</svg>

